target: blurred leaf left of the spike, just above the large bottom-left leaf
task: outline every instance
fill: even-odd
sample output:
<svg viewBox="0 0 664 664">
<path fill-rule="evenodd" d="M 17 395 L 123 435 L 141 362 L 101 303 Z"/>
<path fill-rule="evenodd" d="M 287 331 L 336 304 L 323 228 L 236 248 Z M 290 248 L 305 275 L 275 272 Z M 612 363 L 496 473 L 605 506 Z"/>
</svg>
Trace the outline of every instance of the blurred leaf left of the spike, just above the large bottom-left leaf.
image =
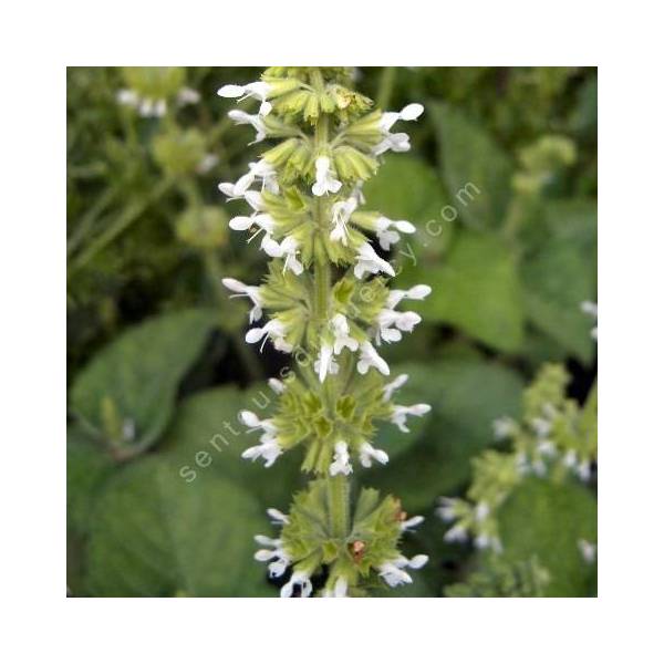
<svg viewBox="0 0 664 664">
<path fill-rule="evenodd" d="M 160 445 L 164 463 L 193 485 L 201 476 L 232 479 L 257 497 L 262 507 L 286 511 L 302 483 L 299 450 L 284 454 L 270 468 L 240 456 L 258 443 L 260 432 L 247 433 L 247 427 L 238 422 L 238 413 L 247 409 L 267 417 L 274 401 L 276 395 L 264 385 L 246 392 L 227 386 L 185 400 Z M 194 476 L 196 479 L 191 480 Z"/>
</svg>

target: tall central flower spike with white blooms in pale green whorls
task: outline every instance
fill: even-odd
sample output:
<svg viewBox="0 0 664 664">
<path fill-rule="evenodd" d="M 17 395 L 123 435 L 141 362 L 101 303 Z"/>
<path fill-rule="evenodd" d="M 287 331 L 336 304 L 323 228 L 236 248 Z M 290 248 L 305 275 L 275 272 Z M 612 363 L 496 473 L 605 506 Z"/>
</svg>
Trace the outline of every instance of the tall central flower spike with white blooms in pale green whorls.
<svg viewBox="0 0 664 664">
<path fill-rule="evenodd" d="M 247 205 L 230 228 L 270 259 L 260 284 L 224 279 L 231 297 L 251 303 L 253 326 L 246 341 L 261 350 L 270 342 L 297 364 L 297 373 L 270 381 L 278 403 L 269 417 L 241 413 L 242 422 L 261 434 L 242 456 L 269 467 L 299 447 L 302 469 L 319 477 L 295 497 L 290 515 L 271 510 L 281 526 L 279 538 L 257 538 L 264 547 L 257 559 L 269 562 L 271 575 L 293 569 L 282 596 L 311 594 L 311 578 L 323 567 L 322 594 L 342 596 L 362 594 L 372 578 L 407 583 L 406 569 L 426 562 L 398 550 L 402 532 L 422 518 L 407 519 L 396 499 L 381 501 L 371 489 L 363 489 L 351 509 L 346 479 L 356 464 L 388 461 L 371 443 L 377 421 L 408 430 L 408 416 L 430 409 L 392 401 L 407 376 L 390 376 L 380 352 L 421 321 L 403 304 L 430 292 L 424 284 L 391 290 L 387 277 L 395 271 L 380 253 L 415 227 L 362 208 L 362 185 L 375 175 L 381 155 L 409 149 L 407 134 L 393 127 L 417 120 L 424 108 L 373 110 L 373 102 L 350 85 L 344 68 L 270 68 L 258 82 L 218 91 L 255 104 L 229 112 L 236 124 L 251 127 L 252 143 L 278 141 L 249 163 L 245 175 L 220 183 L 219 189 Z"/>
</svg>

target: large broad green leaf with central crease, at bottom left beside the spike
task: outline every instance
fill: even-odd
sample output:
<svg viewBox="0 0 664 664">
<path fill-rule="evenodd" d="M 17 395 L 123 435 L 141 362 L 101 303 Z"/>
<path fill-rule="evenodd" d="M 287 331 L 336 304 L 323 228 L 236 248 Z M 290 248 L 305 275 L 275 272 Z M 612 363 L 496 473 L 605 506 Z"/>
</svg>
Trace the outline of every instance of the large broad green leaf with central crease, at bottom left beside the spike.
<svg viewBox="0 0 664 664">
<path fill-rule="evenodd" d="M 94 510 L 87 588 L 95 596 L 273 594 L 253 560 L 267 520 L 257 500 L 216 476 L 187 484 L 158 456 L 117 474 Z"/>
</svg>

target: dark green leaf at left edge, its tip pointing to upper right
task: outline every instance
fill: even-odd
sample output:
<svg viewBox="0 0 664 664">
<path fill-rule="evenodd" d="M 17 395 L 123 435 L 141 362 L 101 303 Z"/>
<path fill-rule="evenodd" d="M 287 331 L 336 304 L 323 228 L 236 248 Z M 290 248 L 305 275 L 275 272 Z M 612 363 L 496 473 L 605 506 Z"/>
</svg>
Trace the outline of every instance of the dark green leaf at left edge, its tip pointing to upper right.
<svg viewBox="0 0 664 664">
<path fill-rule="evenodd" d="M 72 412 L 118 456 L 147 448 L 168 423 L 178 383 L 200 353 L 215 319 L 211 311 L 189 310 L 125 332 L 76 377 Z"/>
</svg>

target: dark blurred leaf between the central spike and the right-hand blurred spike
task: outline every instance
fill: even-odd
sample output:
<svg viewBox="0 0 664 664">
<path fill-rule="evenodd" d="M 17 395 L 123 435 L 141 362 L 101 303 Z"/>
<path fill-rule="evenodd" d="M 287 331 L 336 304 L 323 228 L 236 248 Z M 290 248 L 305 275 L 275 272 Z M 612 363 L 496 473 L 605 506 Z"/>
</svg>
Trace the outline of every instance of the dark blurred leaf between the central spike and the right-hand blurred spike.
<svg viewBox="0 0 664 664">
<path fill-rule="evenodd" d="M 397 463 L 367 471 L 363 484 L 398 496 L 414 513 L 469 480 L 470 459 L 492 442 L 492 421 L 518 415 L 523 383 L 509 369 L 477 361 L 404 365 L 394 367 L 397 372 L 412 376 L 414 390 L 426 390 L 423 401 L 432 412 L 424 416 L 425 428 L 411 442 L 412 449 Z M 401 395 L 396 401 L 407 403 Z M 381 438 L 376 446 L 382 446 Z"/>
</svg>

